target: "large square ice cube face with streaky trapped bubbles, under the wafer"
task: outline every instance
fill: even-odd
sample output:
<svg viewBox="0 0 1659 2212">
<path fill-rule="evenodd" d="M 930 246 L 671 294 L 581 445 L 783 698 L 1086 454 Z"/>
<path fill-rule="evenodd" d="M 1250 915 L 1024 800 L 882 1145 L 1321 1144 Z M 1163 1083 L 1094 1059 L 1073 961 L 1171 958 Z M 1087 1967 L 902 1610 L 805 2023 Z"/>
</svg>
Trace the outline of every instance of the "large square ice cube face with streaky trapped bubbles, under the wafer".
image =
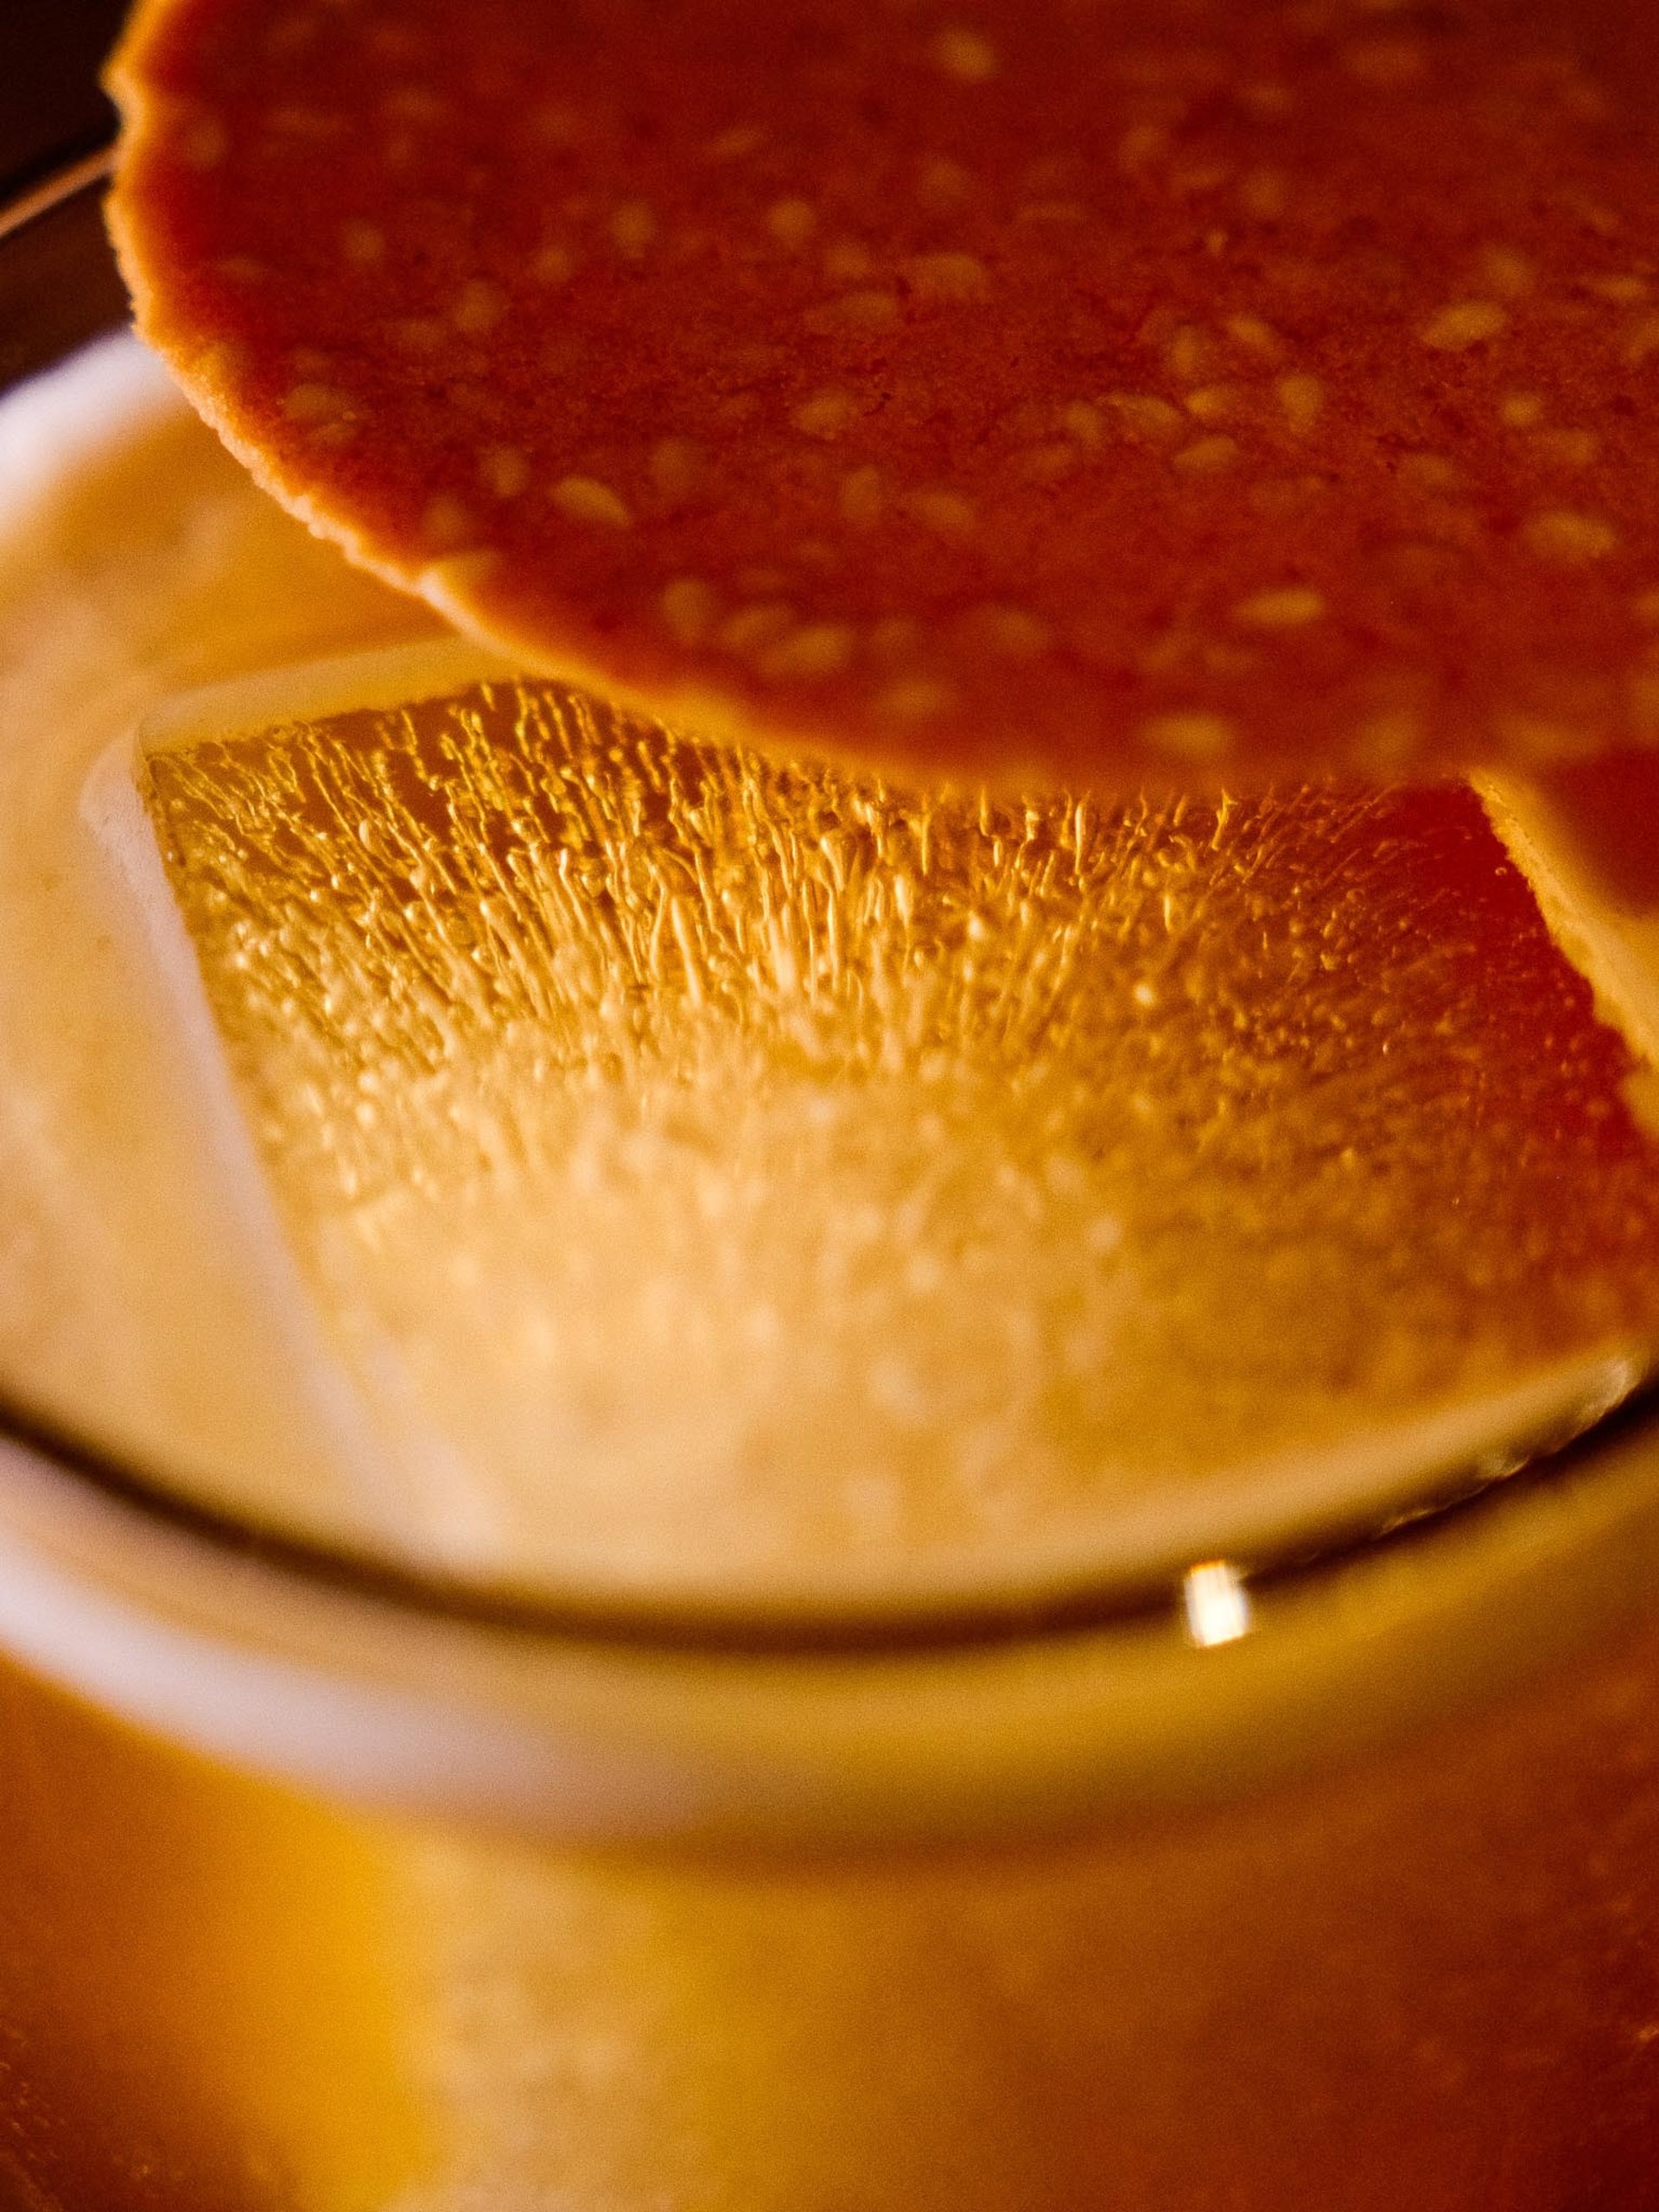
<svg viewBox="0 0 1659 2212">
<path fill-rule="evenodd" d="M 1469 790 L 916 805 L 504 684 L 144 803 L 323 1327 L 520 1575 L 995 1588 L 1659 1329 L 1652 1079 Z"/>
</svg>

